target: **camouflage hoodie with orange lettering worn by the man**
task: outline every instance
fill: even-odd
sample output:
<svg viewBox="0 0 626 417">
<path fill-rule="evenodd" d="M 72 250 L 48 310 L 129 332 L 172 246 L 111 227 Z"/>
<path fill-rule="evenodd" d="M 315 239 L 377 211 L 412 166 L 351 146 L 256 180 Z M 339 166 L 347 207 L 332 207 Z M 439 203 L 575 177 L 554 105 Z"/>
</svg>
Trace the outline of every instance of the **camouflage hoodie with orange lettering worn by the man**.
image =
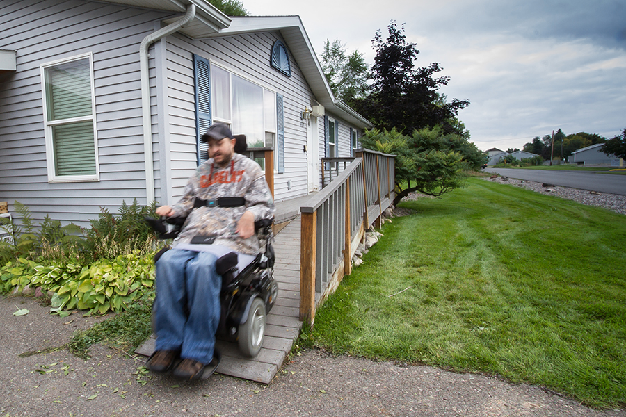
<svg viewBox="0 0 626 417">
<path fill-rule="evenodd" d="M 244 197 L 246 205 L 193 208 L 195 197 L 204 200 Z M 182 199 L 172 206 L 172 210 L 175 216 L 188 216 L 175 245 L 190 243 L 196 235 L 212 235 L 216 236 L 214 245 L 227 246 L 243 254 L 256 254 L 259 252 L 257 236 L 239 237 L 237 222 L 246 211 L 255 215 L 255 221 L 273 218 L 274 201 L 259 164 L 246 156 L 233 154 L 225 167 L 218 167 L 213 158 L 202 163 L 188 180 Z"/>
</svg>

